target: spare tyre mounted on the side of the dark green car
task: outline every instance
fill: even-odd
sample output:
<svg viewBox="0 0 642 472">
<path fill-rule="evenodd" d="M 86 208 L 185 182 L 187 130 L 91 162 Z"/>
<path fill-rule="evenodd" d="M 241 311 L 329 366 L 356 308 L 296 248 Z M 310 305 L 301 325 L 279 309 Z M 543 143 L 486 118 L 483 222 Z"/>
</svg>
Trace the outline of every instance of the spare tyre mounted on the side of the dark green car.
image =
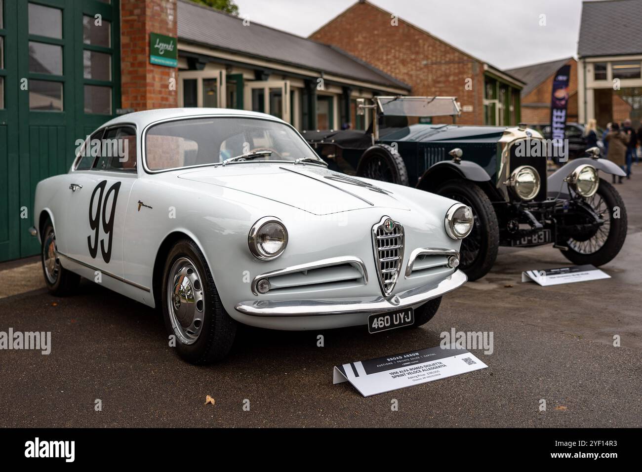
<svg viewBox="0 0 642 472">
<path fill-rule="evenodd" d="M 383 180 L 407 186 L 408 170 L 401 155 L 388 144 L 375 144 L 361 154 L 356 174 L 366 179 Z"/>
</svg>

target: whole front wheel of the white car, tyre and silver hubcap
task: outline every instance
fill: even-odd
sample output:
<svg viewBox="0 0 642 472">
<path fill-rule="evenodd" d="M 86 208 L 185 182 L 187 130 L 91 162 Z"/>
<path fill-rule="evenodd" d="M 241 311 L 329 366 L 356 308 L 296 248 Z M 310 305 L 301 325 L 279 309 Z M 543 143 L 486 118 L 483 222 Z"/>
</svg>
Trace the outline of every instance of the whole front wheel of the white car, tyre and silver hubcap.
<svg viewBox="0 0 642 472">
<path fill-rule="evenodd" d="M 165 327 L 174 335 L 178 355 L 193 364 L 227 356 L 236 321 L 221 304 L 203 253 L 191 240 L 180 240 L 169 252 L 163 270 L 161 306 Z"/>
</svg>

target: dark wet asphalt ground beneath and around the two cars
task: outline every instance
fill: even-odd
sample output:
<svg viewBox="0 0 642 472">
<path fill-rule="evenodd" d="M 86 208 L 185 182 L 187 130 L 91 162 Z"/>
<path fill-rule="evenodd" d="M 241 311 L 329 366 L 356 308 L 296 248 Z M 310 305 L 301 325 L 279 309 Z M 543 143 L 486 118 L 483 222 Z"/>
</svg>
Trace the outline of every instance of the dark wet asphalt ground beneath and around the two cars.
<svg viewBox="0 0 642 472">
<path fill-rule="evenodd" d="M 51 331 L 52 348 L 0 350 L 0 426 L 642 426 L 641 175 L 634 166 L 617 186 L 629 235 L 602 267 L 611 279 L 521 283 L 523 270 L 569 263 L 551 247 L 501 249 L 492 272 L 446 295 L 422 328 L 243 327 L 207 367 L 178 358 L 156 311 L 89 281 L 51 297 L 37 259 L 4 263 L 0 331 Z M 332 383 L 334 365 L 439 345 L 451 328 L 493 332 L 492 354 L 473 351 L 488 369 L 369 398 Z"/>
</svg>

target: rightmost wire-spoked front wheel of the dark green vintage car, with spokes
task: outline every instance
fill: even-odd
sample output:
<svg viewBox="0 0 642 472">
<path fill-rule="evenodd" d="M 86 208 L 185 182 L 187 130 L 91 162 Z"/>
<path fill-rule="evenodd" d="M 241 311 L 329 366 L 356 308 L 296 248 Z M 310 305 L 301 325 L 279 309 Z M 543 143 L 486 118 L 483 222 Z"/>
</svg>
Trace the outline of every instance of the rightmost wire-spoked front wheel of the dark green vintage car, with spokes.
<svg viewBox="0 0 642 472">
<path fill-rule="evenodd" d="M 600 179 L 598 191 L 586 202 L 605 223 L 586 241 L 569 239 L 566 241 L 568 250 L 561 252 L 576 265 L 604 265 L 618 255 L 627 238 L 627 209 L 620 193 L 604 179 Z M 620 208 L 620 218 L 615 218 L 616 207 Z M 608 216 L 608 220 L 605 216 Z"/>
</svg>

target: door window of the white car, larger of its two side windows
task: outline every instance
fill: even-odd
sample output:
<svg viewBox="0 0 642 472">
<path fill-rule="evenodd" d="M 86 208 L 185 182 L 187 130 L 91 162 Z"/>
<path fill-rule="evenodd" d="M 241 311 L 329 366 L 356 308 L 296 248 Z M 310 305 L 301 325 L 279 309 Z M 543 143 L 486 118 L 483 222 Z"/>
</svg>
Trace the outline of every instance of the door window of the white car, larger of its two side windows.
<svg viewBox="0 0 642 472">
<path fill-rule="evenodd" d="M 136 130 L 116 127 L 107 130 L 102 139 L 100 157 L 94 169 L 135 171 L 137 161 Z"/>
</svg>

